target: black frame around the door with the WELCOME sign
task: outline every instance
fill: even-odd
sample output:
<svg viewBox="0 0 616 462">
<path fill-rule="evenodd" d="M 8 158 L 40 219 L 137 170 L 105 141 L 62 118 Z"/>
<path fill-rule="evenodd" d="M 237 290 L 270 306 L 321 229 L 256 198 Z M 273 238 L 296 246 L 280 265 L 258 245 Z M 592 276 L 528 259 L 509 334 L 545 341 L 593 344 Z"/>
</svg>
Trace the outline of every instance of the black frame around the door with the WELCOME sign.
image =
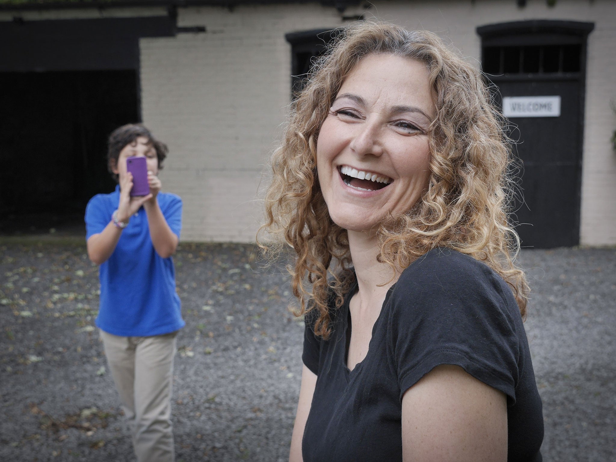
<svg viewBox="0 0 616 462">
<path fill-rule="evenodd" d="M 586 96 L 586 47 L 588 34 L 594 29 L 594 23 L 561 20 L 527 20 L 496 23 L 477 27 L 481 38 L 481 61 L 485 60 L 485 48 L 494 46 L 537 46 L 537 45 L 580 45 L 580 71 L 557 74 L 516 74 L 490 75 L 489 79 L 496 86 L 507 81 L 573 80 L 580 84 L 580 116 L 578 130 L 580 137 L 576 147 L 577 181 L 575 203 L 575 245 L 580 243 L 580 214 L 582 205 L 582 155 L 584 144 L 585 96 Z"/>
</svg>

